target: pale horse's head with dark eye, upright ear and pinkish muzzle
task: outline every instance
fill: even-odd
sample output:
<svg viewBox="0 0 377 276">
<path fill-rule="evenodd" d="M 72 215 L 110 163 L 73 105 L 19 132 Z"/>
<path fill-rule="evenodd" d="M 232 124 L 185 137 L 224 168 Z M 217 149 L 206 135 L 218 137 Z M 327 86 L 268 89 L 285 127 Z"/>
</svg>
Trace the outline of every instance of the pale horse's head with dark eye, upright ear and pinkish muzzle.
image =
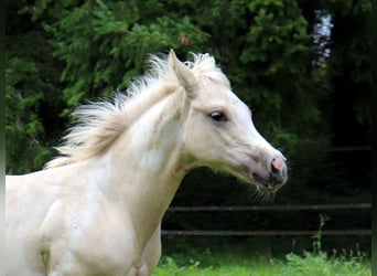
<svg viewBox="0 0 377 276">
<path fill-rule="evenodd" d="M 283 155 L 256 129 L 251 112 L 230 88 L 229 81 L 207 54 L 190 68 L 174 52 L 169 62 L 185 93 L 184 146 L 196 166 L 226 171 L 257 187 L 277 191 L 287 181 Z M 194 62 L 194 63 L 195 63 Z M 208 67 L 212 70 L 206 71 Z"/>
</svg>

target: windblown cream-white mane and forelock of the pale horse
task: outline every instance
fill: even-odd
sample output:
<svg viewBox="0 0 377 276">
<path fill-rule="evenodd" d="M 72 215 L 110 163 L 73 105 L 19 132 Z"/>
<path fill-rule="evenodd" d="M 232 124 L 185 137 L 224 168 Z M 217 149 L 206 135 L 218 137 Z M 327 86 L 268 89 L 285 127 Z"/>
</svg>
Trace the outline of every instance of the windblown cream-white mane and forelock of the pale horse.
<svg viewBox="0 0 377 276">
<path fill-rule="evenodd" d="M 230 87 L 228 78 L 208 54 L 194 54 L 185 62 L 197 79 L 211 78 Z M 126 93 L 116 93 L 112 99 L 82 105 L 73 113 L 75 125 L 55 149 L 60 156 L 49 161 L 44 169 L 78 162 L 103 152 L 132 121 L 180 83 L 166 55 L 151 55 L 148 72 L 131 82 Z"/>
</svg>

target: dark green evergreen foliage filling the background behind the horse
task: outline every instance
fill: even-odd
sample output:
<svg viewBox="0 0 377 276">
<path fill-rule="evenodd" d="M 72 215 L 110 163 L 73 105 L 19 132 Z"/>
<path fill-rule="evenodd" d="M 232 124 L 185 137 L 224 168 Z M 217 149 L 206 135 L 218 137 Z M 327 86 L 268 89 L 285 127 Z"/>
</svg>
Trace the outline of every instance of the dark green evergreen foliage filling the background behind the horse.
<svg viewBox="0 0 377 276">
<path fill-rule="evenodd" d="M 368 142 L 369 13 L 367 0 L 8 1 L 7 171 L 41 169 L 73 108 L 123 91 L 149 53 L 173 47 L 182 60 L 191 51 L 215 55 L 257 128 L 288 157 L 294 188 L 279 197 L 314 197 L 309 188 L 334 183 L 342 168 L 326 149 Z M 315 14 L 332 18 L 332 35 L 317 40 L 325 44 L 313 39 L 321 36 Z M 247 202 L 245 189 L 204 181 L 205 203 L 224 199 L 207 192 L 214 187 L 229 194 L 224 201 Z M 181 202 L 200 202 L 194 195 Z"/>
</svg>

